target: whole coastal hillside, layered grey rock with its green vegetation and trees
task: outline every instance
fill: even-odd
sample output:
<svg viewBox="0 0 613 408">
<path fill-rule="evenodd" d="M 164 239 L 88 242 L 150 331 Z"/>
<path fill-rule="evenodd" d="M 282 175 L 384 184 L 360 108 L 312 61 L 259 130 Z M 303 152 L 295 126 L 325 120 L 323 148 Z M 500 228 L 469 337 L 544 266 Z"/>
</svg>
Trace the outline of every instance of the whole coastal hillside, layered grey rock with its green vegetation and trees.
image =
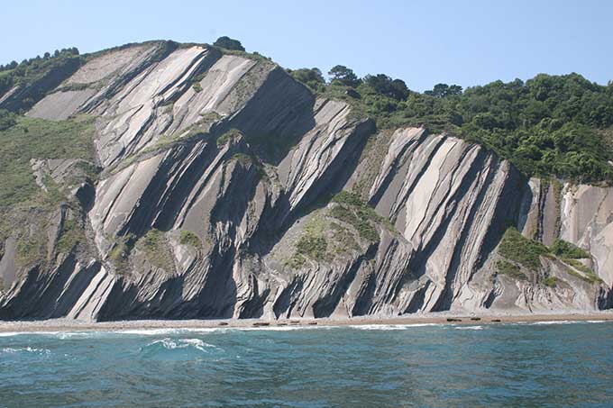
<svg viewBox="0 0 613 408">
<path fill-rule="evenodd" d="M 222 45 L 0 70 L 0 318 L 611 307 L 613 86 L 419 94 Z"/>
</svg>

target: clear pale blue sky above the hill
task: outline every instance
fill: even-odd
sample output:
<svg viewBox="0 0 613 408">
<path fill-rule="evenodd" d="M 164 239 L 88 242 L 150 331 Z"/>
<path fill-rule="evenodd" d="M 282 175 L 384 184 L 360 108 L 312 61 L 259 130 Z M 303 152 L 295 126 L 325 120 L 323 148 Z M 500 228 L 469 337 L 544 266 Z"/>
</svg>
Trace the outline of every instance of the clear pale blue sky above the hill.
<svg viewBox="0 0 613 408">
<path fill-rule="evenodd" d="M 414 90 L 578 72 L 613 79 L 613 1 L 6 1 L 0 63 L 154 39 L 242 41 L 287 68 L 336 64 Z"/>
</svg>

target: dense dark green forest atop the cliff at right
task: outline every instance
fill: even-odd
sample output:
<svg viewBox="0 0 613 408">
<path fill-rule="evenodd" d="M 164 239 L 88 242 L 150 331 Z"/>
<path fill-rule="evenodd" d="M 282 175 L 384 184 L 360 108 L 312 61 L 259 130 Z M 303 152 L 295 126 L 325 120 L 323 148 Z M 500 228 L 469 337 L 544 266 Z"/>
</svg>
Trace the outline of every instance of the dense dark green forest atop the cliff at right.
<svg viewBox="0 0 613 408">
<path fill-rule="evenodd" d="M 318 94 L 349 101 L 380 129 L 425 125 L 480 143 L 527 176 L 613 182 L 613 83 L 540 74 L 465 91 L 438 84 L 421 94 L 400 79 L 359 78 L 343 66 L 332 68 L 327 82 L 317 68 L 288 71 Z"/>
</svg>

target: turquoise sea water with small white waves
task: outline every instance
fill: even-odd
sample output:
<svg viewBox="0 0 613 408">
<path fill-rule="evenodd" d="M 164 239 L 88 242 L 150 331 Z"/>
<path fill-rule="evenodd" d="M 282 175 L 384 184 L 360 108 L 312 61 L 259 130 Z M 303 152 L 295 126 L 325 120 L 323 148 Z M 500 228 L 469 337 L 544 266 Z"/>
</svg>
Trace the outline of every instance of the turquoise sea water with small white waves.
<svg viewBox="0 0 613 408">
<path fill-rule="evenodd" d="M 611 406 L 613 323 L 0 333 L 0 406 Z"/>
</svg>

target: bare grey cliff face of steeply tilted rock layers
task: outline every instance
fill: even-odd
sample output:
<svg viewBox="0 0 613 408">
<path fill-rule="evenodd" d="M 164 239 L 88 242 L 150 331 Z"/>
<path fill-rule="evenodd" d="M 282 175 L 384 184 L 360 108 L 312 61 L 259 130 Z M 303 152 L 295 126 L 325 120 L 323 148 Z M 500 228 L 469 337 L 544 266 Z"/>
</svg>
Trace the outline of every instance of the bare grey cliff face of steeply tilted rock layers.
<svg viewBox="0 0 613 408">
<path fill-rule="evenodd" d="M 101 173 L 70 184 L 78 160 L 32 158 L 41 188 L 51 177 L 80 207 L 60 204 L 41 231 L 47 262 L 18 265 L 18 237 L 5 240 L 1 318 L 613 303 L 610 188 L 527 180 L 478 145 L 421 128 L 376 132 L 350 104 L 316 98 L 249 55 L 153 42 L 101 53 L 73 72 L 27 115 L 95 117 Z M 58 250 L 75 221 L 83 240 Z M 545 245 L 569 241 L 591 258 L 544 253 L 526 267 L 500 250 L 509 227 Z"/>
</svg>

